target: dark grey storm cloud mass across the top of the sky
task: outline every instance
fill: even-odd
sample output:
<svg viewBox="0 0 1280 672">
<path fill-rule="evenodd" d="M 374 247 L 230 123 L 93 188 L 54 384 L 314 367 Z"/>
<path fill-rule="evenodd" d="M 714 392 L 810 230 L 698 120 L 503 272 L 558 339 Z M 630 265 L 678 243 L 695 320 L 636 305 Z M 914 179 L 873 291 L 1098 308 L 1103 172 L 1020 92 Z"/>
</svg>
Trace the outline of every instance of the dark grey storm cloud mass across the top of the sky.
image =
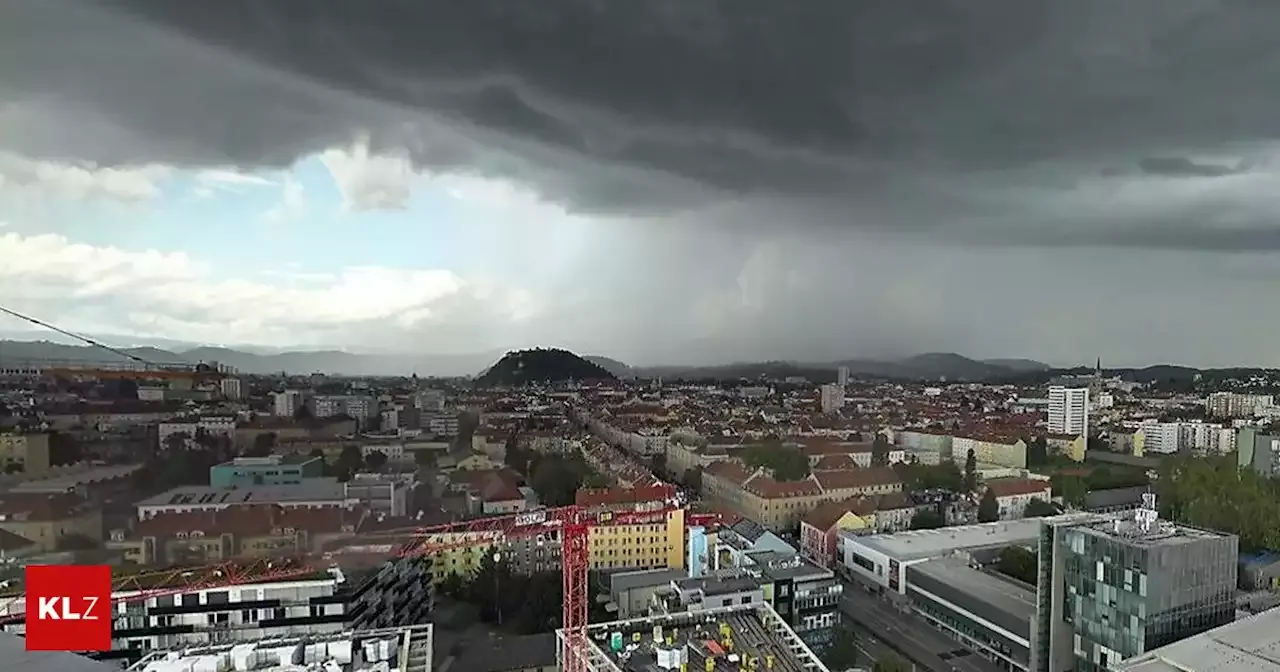
<svg viewBox="0 0 1280 672">
<path fill-rule="evenodd" d="M 1117 180 L 1228 177 L 1180 156 L 1280 136 L 1272 1 L 13 0 L 0 13 L 0 95 L 15 102 L 0 146 L 251 168 L 365 133 L 580 210 L 751 197 L 795 204 L 791 227 L 964 238 L 1004 221 L 1005 241 L 1033 244 L 1075 204 L 1048 211 L 1001 189 L 1115 165 L 1139 169 Z M 1110 244 L 1132 204 L 1093 205 L 1069 238 Z M 1202 225 L 1144 216 L 1119 238 L 1180 246 Z"/>
</svg>

